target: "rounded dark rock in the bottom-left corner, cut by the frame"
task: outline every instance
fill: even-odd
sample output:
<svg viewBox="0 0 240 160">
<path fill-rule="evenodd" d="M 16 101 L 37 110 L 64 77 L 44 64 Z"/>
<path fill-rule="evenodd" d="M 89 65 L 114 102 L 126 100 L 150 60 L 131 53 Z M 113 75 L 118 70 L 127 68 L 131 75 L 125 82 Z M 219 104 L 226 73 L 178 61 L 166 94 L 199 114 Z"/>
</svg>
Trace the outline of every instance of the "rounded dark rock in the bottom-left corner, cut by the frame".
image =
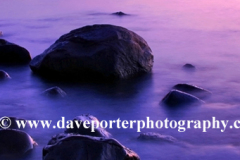
<svg viewBox="0 0 240 160">
<path fill-rule="evenodd" d="M 36 142 L 25 132 L 19 130 L 0 130 L 0 157 L 21 156 L 32 150 Z"/>
</svg>

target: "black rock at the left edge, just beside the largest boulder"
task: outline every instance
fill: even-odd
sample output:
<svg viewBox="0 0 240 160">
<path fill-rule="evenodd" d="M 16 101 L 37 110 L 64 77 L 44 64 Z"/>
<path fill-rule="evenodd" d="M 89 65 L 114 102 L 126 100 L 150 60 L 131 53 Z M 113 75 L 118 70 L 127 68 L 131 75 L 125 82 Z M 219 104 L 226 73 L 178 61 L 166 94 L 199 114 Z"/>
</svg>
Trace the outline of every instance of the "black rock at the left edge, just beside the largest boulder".
<svg viewBox="0 0 240 160">
<path fill-rule="evenodd" d="M 23 47 L 0 39 L 0 64 L 28 64 L 30 53 Z"/>
</svg>

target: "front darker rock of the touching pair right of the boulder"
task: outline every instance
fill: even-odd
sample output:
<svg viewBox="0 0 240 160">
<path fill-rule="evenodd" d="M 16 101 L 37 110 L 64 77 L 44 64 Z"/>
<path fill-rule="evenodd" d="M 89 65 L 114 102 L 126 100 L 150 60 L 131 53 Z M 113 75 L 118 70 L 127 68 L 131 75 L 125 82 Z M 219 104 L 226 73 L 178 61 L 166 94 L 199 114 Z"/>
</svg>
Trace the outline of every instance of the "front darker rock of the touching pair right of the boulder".
<svg viewBox="0 0 240 160">
<path fill-rule="evenodd" d="M 204 103 L 199 98 L 178 90 L 171 90 L 163 99 L 162 102 L 168 106 L 182 106 L 189 104 Z"/>
</svg>

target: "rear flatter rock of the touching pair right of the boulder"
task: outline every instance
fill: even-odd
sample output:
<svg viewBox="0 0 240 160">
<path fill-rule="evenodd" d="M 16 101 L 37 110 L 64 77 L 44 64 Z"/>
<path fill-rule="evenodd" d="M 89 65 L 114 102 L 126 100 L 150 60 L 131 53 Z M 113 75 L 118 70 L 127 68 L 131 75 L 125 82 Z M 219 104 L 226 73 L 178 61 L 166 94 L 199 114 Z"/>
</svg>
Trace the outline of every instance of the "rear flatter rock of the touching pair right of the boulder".
<svg viewBox="0 0 240 160">
<path fill-rule="evenodd" d="M 200 99 L 208 98 L 212 94 L 210 91 L 208 91 L 206 89 L 203 89 L 198 86 L 191 85 L 191 84 L 177 84 L 177 85 L 173 86 L 173 89 L 189 93 Z"/>
</svg>

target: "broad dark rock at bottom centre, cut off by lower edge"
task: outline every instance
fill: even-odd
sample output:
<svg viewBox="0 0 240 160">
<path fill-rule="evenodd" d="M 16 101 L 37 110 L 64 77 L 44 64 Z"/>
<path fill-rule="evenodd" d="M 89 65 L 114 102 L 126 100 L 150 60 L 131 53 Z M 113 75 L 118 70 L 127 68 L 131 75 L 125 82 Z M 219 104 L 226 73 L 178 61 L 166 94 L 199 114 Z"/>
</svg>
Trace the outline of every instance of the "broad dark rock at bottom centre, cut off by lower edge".
<svg viewBox="0 0 240 160">
<path fill-rule="evenodd" d="M 115 139 L 59 134 L 43 148 L 43 160 L 139 160 Z"/>
</svg>

